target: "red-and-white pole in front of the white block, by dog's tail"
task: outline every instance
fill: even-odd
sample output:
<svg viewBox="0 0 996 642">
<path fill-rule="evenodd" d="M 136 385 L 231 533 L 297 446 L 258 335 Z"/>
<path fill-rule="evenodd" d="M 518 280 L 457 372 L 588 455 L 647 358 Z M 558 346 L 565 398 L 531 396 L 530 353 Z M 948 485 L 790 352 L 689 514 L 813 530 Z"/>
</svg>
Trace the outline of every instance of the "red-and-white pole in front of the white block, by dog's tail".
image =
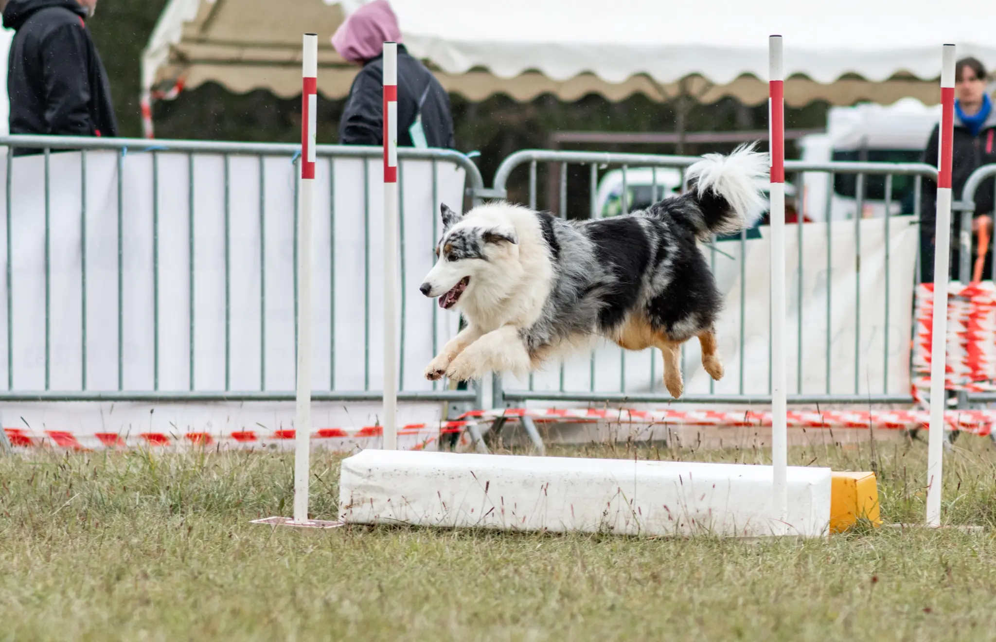
<svg viewBox="0 0 996 642">
<path fill-rule="evenodd" d="M 771 463 L 772 509 L 784 520 L 788 511 L 788 391 L 785 362 L 785 72 L 782 37 L 768 39 L 768 148 L 771 154 Z M 800 223 L 801 224 L 801 223 Z"/>
</svg>

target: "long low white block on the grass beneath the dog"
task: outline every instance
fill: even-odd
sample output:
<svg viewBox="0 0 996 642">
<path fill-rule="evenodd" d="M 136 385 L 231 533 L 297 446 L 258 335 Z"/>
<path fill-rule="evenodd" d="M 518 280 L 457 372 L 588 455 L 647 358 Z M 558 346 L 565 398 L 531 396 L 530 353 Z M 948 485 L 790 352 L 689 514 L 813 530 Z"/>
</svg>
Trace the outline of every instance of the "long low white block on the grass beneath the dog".
<svg viewBox="0 0 996 642">
<path fill-rule="evenodd" d="M 365 450 L 343 461 L 341 522 L 614 535 L 829 535 L 831 470 Z"/>
</svg>

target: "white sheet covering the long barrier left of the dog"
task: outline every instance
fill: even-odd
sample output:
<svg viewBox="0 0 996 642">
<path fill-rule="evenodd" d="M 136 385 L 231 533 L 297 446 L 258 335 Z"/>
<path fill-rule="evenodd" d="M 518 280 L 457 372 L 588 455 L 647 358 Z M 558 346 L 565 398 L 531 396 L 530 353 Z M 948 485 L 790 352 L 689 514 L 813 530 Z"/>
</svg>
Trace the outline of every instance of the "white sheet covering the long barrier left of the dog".
<svg viewBox="0 0 996 642">
<path fill-rule="evenodd" d="M 152 155 L 124 156 L 121 273 L 119 306 L 119 199 L 118 154 L 87 152 L 86 243 L 82 244 L 81 154 L 51 156 L 50 214 L 46 226 L 44 157 L 14 159 L 11 184 L 10 308 L 6 280 L 0 279 L 0 386 L 8 381 L 8 312 L 12 325 L 13 388 L 46 388 L 46 296 L 49 299 L 50 365 L 48 388 L 57 391 L 83 387 L 84 305 L 86 306 L 86 376 L 89 390 L 119 389 L 119 345 L 124 370 L 121 388 L 149 391 L 156 387 L 154 302 L 158 296 L 158 389 L 220 391 L 226 389 L 225 332 L 225 163 L 218 154 L 158 153 L 158 231 L 153 235 Z M 0 176 L 6 176 L 7 156 L 0 154 Z M 330 185 L 329 162 L 319 158 L 314 230 L 313 374 L 316 390 L 379 390 L 382 372 L 382 163 L 337 159 L 335 185 Z M 265 157 L 261 190 L 260 160 L 233 155 L 229 160 L 229 332 L 228 385 L 234 391 L 265 389 L 293 391 L 295 387 L 295 166 L 291 158 Z M 194 230 L 189 223 L 188 176 L 194 176 Z M 433 224 L 438 202 L 458 207 L 462 202 L 464 170 L 452 163 L 402 160 L 405 298 L 403 332 L 403 389 L 430 390 L 422 377 L 433 356 L 433 319 L 437 344 L 456 330 L 455 315 L 434 314 L 435 302 L 418 293 L 417 286 L 434 261 Z M 335 194 L 335 259 L 330 195 Z M 0 180 L 0 204 L 6 202 L 6 181 Z M 433 202 L 433 198 L 436 202 Z M 365 218 L 365 200 L 369 215 Z M 265 203 L 261 217 L 260 203 Z M 2 210 L 2 205 L 0 205 Z M 265 234 L 265 269 L 261 270 L 261 226 Z M 49 254 L 46 256 L 46 229 Z M 158 286 L 154 281 L 153 239 L 158 239 Z M 367 240 L 369 239 L 369 245 Z M 193 350 L 191 355 L 190 248 L 193 247 Z M 0 225 L 0 267 L 7 265 L 6 225 Z M 369 248 L 369 250 L 368 250 Z M 82 259 L 86 251 L 86 302 Z M 46 290 L 45 264 L 51 279 Z M 330 284 L 335 267 L 335 288 Z M 261 289 L 265 277 L 265 301 Z M 412 281 L 413 280 L 413 281 Z M 369 284 L 369 296 L 365 296 Z M 369 310 L 365 313 L 365 302 Z M 335 305 L 335 327 L 331 325 Z M 441 312 L 441 311 L 440 311 Z M 119 317 L 121 315 L 121 317 Z M 123 333 L 119 336 L 119 319 Z M 264 322 L 265 321 L 265 322 Z M 263 327 L 265 326 L 265 331 Z M 265 335 L 264 341 L 261 334 Z M 365 347 L 369 336 L 369 352 Z M 334 341 L 335 361 L 330 349 Z M 368 358 L 369 357 L 369 358 Z M 265 361 L 265 380 L 261 370 Z M 193 383 L 190 381 L 191 362 Z M 365 362 L 369 364 L 365 367 Z M 335 375 L 335 385 L 332 377 Z M 438 385 L 438 384 L 437 384 Z M 340 404 L 341 405 L 341 404 Z M 44 405 L 36 406 L 44 418 Z M 264 410 L 267 412 L 273 412 Z M 372 425 L 379 403 L 361 404 L 367 416 L 354 408 L 336 426 Z M 286 421 L 293 404 L 283 407 Z M 340 408 L 341 410 L 342 408 Z M 99 408 L 81 415 L 91 434 L 101 423 Z M 438 407 L 434 412 L 438 413 Z M 212 417 L 212 412 L 214 416 Z M 128 422 L 148 420 L 147 409 L 129 416 L 119 412 L 112 432 Z M 232 411 L 205 409 L 201 421 L 215 426 L 231 419 Z M 238 414 L 238 413 L 236 413 Z M 244 414 L 244 413 L 243 413 Z M 188 416 L 187 413 L 184 416 Z M 347 413 L 348 415 L 348 413 Z M 162 417 L 162 413 L 159 415 Z M 246 415 L 247 417 L 250 415 Z M 252 415 L 256 416 L 256 415 Z M 421 416 L 421 415 L 419 415 Z M 135 417 L 139 419 L 135 420 Z M 410 417 L 402 417 L 408 420 Z M 5 417 L 8 420 L 9 417 Z M 32 418 L 26 417 L 29 421 Z M 163 419 L 165 420 L 165 419 Z M 424 420 L 424 419 L 422 419 Z M 72 427 L 71 427 L 72 428 Z M 107 428 L 107 426 L 105 426 Z M 66 428 L 70 429 L 70 428 Z"/>
</svg>

